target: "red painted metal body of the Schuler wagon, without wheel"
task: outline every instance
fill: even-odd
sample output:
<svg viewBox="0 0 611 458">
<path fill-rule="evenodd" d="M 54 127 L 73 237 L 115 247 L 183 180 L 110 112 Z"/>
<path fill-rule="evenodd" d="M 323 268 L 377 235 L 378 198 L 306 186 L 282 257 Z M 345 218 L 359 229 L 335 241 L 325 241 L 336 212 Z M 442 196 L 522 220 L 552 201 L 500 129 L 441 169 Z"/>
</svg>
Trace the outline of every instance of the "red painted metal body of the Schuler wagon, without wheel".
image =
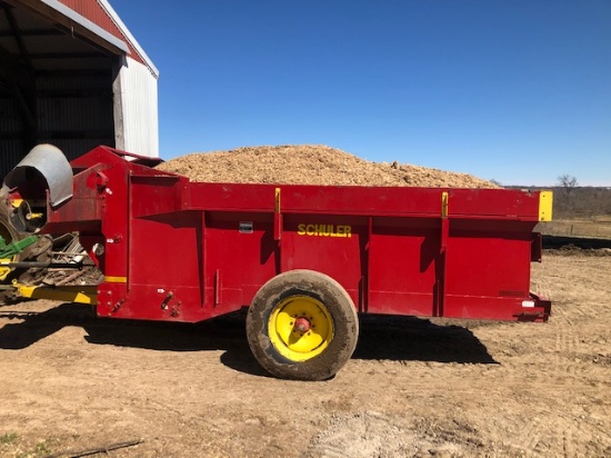
<svg viewBox="0 0 611 458">
<path fill-rule="evenodd" d="M 529 291 L 539 192 L 197 183 L 106 147 L 72 167 L 74 195 L 44 231 L 98 243 L 101 316 L 200 321 L 291 269 L 334 278 L 362 312 L 550 313 Z"/>
</svg>

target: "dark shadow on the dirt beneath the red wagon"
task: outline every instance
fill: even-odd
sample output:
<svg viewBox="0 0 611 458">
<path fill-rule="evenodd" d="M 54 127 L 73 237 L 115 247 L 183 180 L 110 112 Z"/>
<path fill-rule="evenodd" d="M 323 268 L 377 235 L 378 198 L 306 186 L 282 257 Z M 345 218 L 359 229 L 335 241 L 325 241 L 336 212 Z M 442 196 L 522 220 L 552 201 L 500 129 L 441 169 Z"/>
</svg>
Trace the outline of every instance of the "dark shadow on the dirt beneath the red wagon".
<svg viewBox="0 0 611 458">
<path fill-rule="evenodd" d="M 223 365 L 251 375 L 267 374 L 249 349 L 243 311 L 190 325 L 97 318 L 91 307 L 63 303 L 42 312 L 0 308 L 0 319 L 9 321 L 0 328 L 0 349 L 23 349 L 67 326 L 77 326 L 84 329 L 90 344 L 170 351 L 223 350 Z M 360 325 L 355 359 L 495 364 L 481 341 L 461 326 L 394 316 L 361 316 Z"/>
</svg>

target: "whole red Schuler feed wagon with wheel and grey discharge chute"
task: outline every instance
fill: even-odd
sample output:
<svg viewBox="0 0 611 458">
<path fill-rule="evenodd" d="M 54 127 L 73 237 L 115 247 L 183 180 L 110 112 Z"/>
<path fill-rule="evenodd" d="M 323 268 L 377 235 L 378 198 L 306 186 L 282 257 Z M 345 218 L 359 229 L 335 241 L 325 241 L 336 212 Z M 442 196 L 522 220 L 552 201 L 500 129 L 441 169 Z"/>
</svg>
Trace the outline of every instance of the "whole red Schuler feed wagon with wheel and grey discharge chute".
<svg viewBox="0 0 611 458">
<path fill-rule="evenodd" d="M 103 280 L 71 300 L 101 317 L 186 322 L 248 308 L 250 348 L 278 377 L 333 376 L 358 313 L 550 315 L 529 290 L 550 192 L 202 183 L 107 147 L 72 162 L 34 150 L 7 176 L 2 205 L 20 232 L 78 232 Z M 41 291 L 59 289 L 22 293 Z"/>
</svg>

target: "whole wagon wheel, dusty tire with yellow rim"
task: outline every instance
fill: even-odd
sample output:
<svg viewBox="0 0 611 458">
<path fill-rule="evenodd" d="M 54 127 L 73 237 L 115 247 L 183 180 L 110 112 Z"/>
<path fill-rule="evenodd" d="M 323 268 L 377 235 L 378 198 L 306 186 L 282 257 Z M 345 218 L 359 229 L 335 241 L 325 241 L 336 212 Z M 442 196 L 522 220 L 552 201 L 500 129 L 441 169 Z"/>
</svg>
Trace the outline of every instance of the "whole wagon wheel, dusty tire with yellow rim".
<svg viewBox="0 0 611 458">
<path fill-rule="evenodd" d="M 359 319 L 335 280 L 312 270 L 291 270 L 257 292 L 247 336 L 254 358 L 271 375 L 325 380 L 354 352 Z"/>
</svg>

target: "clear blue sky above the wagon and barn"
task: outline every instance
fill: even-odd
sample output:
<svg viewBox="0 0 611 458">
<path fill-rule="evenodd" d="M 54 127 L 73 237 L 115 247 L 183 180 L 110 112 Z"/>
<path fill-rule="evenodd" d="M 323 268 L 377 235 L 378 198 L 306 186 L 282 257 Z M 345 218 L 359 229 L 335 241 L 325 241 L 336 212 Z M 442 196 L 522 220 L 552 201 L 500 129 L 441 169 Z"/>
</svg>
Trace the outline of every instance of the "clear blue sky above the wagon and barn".
<svg viewBox="0 0 611 458">
<path fill-rule="evenodd" d="M 611 0 L 110 0 L 160 153 L 328 145 L 503 185 L 611 186 Z"/>
</svg>

